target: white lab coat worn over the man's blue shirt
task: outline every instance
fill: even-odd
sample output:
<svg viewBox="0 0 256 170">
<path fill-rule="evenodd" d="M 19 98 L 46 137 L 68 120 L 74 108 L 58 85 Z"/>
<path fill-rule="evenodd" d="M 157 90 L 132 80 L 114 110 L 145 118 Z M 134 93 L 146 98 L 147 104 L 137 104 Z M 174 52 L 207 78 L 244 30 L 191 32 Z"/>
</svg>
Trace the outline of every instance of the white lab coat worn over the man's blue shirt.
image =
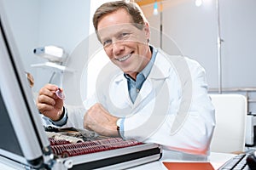
<svg viewBox="0 0 256 170">
<path fill-rule="evenodd" d="M 153 69 L 134 104 L 123 72 L 107 69 L 98 78 L 101 81 L 96 84 L 96 94 L 84 101 L 85 111 L 67 107 L 66 126 L 83 128 L 84 113 L 98 102 L 114 116 L 125 117 L 124 139 L 207 155 L 215 116 L 207 95 L 205 71 L 192 59 L 157 50 Z"/>
</svg>

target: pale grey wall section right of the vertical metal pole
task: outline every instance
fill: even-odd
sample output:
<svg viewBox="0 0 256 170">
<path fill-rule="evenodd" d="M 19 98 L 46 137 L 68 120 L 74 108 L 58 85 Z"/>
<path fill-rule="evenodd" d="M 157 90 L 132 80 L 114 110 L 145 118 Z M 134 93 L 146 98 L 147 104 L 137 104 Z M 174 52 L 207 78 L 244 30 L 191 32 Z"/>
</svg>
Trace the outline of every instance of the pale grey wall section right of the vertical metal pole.
<svg viewBox="0 0 256 170">
<path fill-rule="evenodd" d="M 256 1 L 220 3 L 224 87 L 256 87 Z"/>
</svg>

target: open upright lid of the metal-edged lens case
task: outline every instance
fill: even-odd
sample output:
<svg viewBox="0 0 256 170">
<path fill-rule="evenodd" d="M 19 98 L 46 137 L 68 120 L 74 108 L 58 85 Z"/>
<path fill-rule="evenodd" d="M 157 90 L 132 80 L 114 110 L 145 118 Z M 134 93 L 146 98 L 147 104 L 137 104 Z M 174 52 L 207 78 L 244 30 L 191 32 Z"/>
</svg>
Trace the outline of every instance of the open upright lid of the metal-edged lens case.
<svg viewBox="0 0 256 170">
<path fill-rule="evenodd" d="M 50 154 L 49 141 L 17 52 L 0 1 L 0 156 L 40 167 Z"/>
</svg>

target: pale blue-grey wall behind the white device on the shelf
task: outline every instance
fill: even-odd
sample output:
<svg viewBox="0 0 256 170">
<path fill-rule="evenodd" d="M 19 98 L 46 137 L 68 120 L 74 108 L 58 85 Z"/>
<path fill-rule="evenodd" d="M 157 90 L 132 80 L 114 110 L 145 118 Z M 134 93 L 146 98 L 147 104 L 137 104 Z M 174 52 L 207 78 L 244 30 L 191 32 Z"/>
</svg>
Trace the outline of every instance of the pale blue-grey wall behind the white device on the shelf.
<svg viewBox="0 0 256 170">
<path fill-rule="evenodd" d="M 32 73 L 35 79 L 33 90 L 37 92 L 39 88 L 49 82 L 53 71 L 31 67 L 32 64 L 47 61 L 33 54 L 33 49 L 46 45 L 59 46 L 64 48 L 69 55 L 68 63 L 73 63 L 76 60 L 74 57 L 71 58 L 73 51 L 89 35 L 90 1 L 4 0 L 4 5 L 6 6 L 10 27 L 14 33 L 23 64 L 26 71 Z M 85 49 L 83 51 L 85 55 L 87 54 L 88 44 L 87 47 L 83 48 Z M 86 56 L 84 55 L 85 59 Z M 68 78 L 69 80 L 64 83 L 67 88 L 73 87 L 72 90 L 75 91 L 76 87 L 73 86 L 73 79 Z M 55 77 L 53 82 L 59 83 L 59 77 Z M 67 93 L 67 95 L 69 97 L 67 103 L 71 101 L 75 103 L 79 100 L 79 95 L 73 95 L 72 92 Z"/>
</svg>

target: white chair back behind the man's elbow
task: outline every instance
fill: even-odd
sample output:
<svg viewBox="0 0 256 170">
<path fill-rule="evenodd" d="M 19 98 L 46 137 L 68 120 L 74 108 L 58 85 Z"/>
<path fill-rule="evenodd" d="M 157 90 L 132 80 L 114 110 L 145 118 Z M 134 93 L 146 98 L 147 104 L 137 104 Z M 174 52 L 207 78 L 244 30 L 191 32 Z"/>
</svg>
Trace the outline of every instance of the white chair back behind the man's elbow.
<svg viewBox="0 0 256 170">
<path fill-rule="evenodd" d="M 210 150 L 230 153 L 245 148 L 247 99 L 241 94 L 210 94 L 216 127 Z"/>
</svg>

